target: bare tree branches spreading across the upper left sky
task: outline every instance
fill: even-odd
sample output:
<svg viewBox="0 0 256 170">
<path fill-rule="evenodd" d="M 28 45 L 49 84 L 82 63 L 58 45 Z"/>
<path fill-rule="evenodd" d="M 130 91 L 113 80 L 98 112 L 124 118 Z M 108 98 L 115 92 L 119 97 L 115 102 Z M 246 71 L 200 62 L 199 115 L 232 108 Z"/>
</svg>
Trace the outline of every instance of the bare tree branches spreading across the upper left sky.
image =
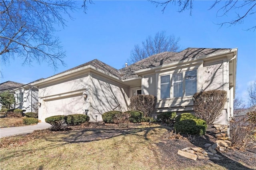
<svg viewBox="0 0 256 170">
<path fill-rule="evenodd" d="M 54 69 L 58 63 L 64 64 L 65 51 L 54 35 L 55 26 L 66 26 L 63 16 L 71 18 L 70 12 L 76 8 L 70 0 L 1 0 L 0 61 L 20 57 L 22 64 L 45 61 Z"/>
</svg>

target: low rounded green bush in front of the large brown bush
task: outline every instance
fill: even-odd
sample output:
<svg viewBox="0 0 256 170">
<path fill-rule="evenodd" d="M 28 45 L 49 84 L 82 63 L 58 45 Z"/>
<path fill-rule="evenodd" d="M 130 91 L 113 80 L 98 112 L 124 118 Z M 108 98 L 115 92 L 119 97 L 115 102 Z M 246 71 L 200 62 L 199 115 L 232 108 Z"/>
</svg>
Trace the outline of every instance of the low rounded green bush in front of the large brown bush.
<svg viewBox="0 0 256 170">
<path fill-rule="evenodd" d="M 174 128 L 181 134 L 204 135 L 206 132 L 206 121 L 197 118 L 191 113 L 182 113 L 175 119 Z"/>
</svg>

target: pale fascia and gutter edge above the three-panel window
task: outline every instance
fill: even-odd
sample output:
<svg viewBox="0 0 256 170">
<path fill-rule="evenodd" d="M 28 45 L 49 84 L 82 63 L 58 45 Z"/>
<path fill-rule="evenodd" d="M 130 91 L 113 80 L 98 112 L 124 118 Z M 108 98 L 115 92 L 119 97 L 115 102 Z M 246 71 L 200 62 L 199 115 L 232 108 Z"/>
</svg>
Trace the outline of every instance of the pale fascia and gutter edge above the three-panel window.
<svg viewBox="0 0 256 170">
<path fill-rule="evenodd" d="M 150 67 L 150 68 L 146 68 L 146 69 L 141 69 L 141 70 L 134 71 L 134 73 L 141 74 L 141 73 L 144 73 L 144 72 L 147 72 L 147 71 L 152 71 L 152 70 L 156 70 L 156 69 L 162 69 L 162 68 L 165 68 L 165 67 L 170 67 L 172 65 L 177 65 L 177 64 L 181 64 L 181 63 L 185 63 L 185 62 L 190 62 L 190 61 L 196 61 L 196 60 L 200 60 L 200 59 L 207 59 L 207 58 L 215 57 L 216 55 L 222 55 L 222 54 L 225 54 L 227 52 L 228 53 L 232 53 L 232 52 L 233 53 L 234 52 L 237 53 L 237 49 L 238 48 L 227 49 L 225 51 L 220 51 L 220 52 L 212 53 L 212 54 L 208 54 L 208 55 L 202 55 L 200 57 L 195 57 L 195 58 L 192 58 L 192 59 L 186 59 L 186 60 L 176 61 L 174 63 L 168 63 L 168 64 L 165 64 L 165 65 L 159 65 L 159 66 L 156 66 L 156 67 Z"/>
</svg>

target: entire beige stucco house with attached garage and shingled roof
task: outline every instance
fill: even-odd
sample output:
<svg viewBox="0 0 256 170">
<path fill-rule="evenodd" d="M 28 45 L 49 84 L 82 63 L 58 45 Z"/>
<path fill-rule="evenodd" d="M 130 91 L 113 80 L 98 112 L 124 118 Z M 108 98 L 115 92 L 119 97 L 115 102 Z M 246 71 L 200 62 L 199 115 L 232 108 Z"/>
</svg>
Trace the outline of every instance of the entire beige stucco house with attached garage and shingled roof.
<svg viewBox="0 0 256 170">
<path fill-rule="evenodd" d="M 227 91 L 223 114 L 233 116 L 237 48 L 187 48 L 163 52 L 117 70 L 97 59 L 32 83 L 39 89 L 39 120 L 53 115 L 87 114 L 91 122 L 102 113 L 130 109 L 130 97 L 157 97 L 155 113 L 193 111 L 192 96 L 212 89 Z"/>
</svg>

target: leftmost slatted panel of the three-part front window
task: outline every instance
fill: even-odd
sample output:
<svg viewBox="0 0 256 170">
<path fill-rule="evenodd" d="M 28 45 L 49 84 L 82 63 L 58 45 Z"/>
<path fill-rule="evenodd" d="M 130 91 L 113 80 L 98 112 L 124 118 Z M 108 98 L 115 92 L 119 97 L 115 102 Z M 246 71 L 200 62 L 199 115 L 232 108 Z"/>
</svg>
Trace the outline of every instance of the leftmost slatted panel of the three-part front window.
<svg viewBox="0 0 256 170">
<path fill-rule="evenodd" d="M 160 99 L 170 98 L 170 75 L 160 77 Z"/>
</svg>

